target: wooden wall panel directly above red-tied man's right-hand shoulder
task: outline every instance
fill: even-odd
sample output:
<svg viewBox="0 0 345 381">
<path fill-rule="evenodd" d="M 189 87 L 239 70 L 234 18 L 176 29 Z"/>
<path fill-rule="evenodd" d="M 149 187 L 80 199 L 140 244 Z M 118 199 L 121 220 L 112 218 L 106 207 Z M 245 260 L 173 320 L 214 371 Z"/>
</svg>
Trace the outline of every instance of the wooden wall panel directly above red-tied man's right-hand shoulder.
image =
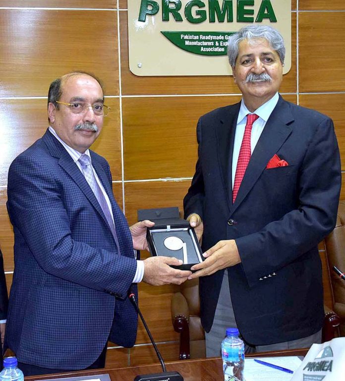
<svg viewBox="0 0 345 381">
<path fill-rule="evenodd" d="M 301 94 L 301 106 L 316 109 L 333 119 L 340 148 L 342 170 L 345 169 L 345 94 Z"/>
</svg>

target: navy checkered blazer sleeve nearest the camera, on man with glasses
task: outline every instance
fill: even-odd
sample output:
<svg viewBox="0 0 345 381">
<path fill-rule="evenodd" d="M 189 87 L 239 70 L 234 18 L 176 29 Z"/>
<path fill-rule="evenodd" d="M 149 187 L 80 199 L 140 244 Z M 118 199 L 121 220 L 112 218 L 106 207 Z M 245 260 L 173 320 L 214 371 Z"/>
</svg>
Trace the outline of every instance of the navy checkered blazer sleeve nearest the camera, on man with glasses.
<svg viewBox="0 0 345 381">
<path fill-rule="evenodd" d="M 136 271 L 135 259 L 100 249 L 104 237 L 85 218 L 80 240 L 73 239 L 70 224 L 78 222 L 70 221 L 67 215 L 61 187 L 46 160 L 19 156 L 11 164 L 7 209 L 16 236 L 22 237 L 44 271 L 125 298 Z M 71 201 L 73 197 L 77 195 L 71 194 Z M 75 218 L 81 223 L 81 216 Z M 93 247 L 86 240 L 98 245 Z"/>
</svg>

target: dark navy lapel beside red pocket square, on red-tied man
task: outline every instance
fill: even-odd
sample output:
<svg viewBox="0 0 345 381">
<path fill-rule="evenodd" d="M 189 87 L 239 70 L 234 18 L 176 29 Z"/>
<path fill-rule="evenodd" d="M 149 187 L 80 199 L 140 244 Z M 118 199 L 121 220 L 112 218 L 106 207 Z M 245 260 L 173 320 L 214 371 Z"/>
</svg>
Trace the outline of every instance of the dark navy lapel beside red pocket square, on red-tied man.
<svg viewBox="0 0 345 381">
<path fill-rule="evenodd" d="M 288 102 L 284 101 L 280 96 L 277 106 L 272 111 L 259 141 L 255 146 L 239 187 L 236 200 L 232 205 L 231 213 L 238 208 L 265 170 L 269 160 L 278 152 L 290 135 L 292 129 L 288 124 L 291 121 L 293 121 L 293 116 L 289 110 Z"/>
</svg>

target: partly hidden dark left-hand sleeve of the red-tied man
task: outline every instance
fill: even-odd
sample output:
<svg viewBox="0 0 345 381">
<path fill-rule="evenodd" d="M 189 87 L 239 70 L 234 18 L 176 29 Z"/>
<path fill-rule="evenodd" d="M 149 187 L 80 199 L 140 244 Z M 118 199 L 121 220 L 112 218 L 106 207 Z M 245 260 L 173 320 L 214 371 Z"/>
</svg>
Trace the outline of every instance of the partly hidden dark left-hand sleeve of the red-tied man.
<svg viewBox="0 0 345 381">
<path fill-rule="evenodd" d="M 198 141 L 198 156 L 200 158 L 201 152 L 201 121 L 199 119 L 196 129 L 196 136 Z M 202 174 L 201 161 L 198 159 L 195 166 L 195 174 L 192 183 L 188 189 L 186 196 L 183 199 L 184 218 L 190 214 L 196 213 L 203 218 L 203 201 L 205 197 L 205 185 Z"/>
</svg>

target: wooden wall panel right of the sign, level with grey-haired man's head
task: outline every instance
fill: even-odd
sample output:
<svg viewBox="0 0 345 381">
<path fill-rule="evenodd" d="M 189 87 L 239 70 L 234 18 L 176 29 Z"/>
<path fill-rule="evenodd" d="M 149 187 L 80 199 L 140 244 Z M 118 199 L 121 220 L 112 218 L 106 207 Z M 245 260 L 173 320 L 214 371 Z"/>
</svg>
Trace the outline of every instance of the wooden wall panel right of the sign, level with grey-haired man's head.
<svg viewBox="0 0 345 381">
<path fill-rule="evenodd" d="M 344 91 L 344 22 L 344 12 L 300 13 L 300 92 Z"/>
</svg>

